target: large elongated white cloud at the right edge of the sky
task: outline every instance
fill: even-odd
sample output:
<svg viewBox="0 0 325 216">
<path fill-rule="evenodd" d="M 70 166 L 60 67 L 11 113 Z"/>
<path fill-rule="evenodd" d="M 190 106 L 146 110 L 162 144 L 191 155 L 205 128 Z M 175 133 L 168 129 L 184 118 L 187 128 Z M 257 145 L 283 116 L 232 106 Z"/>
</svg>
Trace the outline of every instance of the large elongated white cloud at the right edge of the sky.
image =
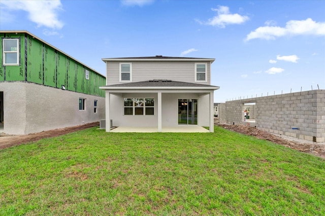
<svg viewBox="0 0 325 216">
<path fill-rule="evenodd" d="M 306 20 L 290 20 L 285 27 L 263 26 L 247 34 L 246 41 L 252 39 L 275 40 L 286 35 L 325 35 L 325 22 Z"/>
</svg>

